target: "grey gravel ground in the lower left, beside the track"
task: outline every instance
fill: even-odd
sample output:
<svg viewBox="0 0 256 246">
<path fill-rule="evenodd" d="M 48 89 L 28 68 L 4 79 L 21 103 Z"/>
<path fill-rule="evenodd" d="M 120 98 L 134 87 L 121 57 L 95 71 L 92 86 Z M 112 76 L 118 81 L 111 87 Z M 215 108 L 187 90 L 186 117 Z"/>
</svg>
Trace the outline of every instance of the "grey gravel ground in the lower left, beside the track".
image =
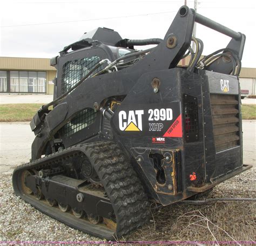
<svg viewBox="0 0 256 246">
<path fill-rule="evenodd" d="M 0 175 L 0 241 L 97 241 L 39 212 L 14 194 L 11 174 Z"/>
</svg>

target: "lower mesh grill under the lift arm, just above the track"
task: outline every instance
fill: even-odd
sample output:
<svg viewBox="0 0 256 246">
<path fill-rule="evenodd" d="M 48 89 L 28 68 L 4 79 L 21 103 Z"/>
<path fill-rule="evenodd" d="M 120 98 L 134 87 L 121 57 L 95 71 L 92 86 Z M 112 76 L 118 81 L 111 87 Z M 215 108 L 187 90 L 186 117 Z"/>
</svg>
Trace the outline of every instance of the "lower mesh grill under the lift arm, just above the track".
<svg viewBox="0 0 256 246">
<path fill-rule="evenodd" d="M 60 129 L 60 133 L 69 137 L 93 124 L 96 120 L 96 115 L 97 111 L 91 108 L 86 108 L 83 111 L 80 111 L 71 121 L 66 123 L 63 128 Z"/>
</svg>

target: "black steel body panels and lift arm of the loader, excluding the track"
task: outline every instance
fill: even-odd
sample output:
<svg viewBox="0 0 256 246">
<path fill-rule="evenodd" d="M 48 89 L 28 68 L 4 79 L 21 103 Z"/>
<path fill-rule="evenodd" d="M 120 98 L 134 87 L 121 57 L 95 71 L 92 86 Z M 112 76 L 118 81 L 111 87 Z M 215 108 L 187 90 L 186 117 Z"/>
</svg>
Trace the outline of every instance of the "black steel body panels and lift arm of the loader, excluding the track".
<svg viewBox="0 0 256 246">
<path fill-rule="evenodd" d="M 145 190 L 157 202 L 163 205 L 176 202 L 193 195 L 196 190 L 203 190 L 210 183 L 214 184 L 215 182 L 217 184 L 219 177 L 222 179 L 225 176 L 229 177 L 230 173 L 237 172 L 239 168 L 240 172 L 244 171 L 242 168 L 241 144 L 218 153 L 214 145 L 210 95 L 223 93 L 219 86 L 220 79 L 223 79 L 230 82 L 230 90 L 226 94 L 238 95 L 238 98 L 240 98 L 237 77 L 227 75 L 232 66 L 231 62 L 223 62 L 222 59 L 216 60 L 207 68 L 214 72 L 198 69 L 188 72 L 184 68 L 177 68 L 178 62 L 190 46 L 194 22 L 232 37 L 227 47 L 231 48 L 241 58 L 245 43 L 244 34 L 234 32 L 198 15 L 194 10 L 188 9 L 187 6 L 183 6 L 174 18 L 164 40 L 142 60 L 120 71 L 87 79 L 52 111 L 44 115 L 43 121 L 40 120 L 41 113 L 34 117 L 31 128 L 35 132 L 36 138 L 32 144 L 32 160 L 40 158 L 45 153 L 50 139 L 55 138 L 63 125 L 78 112 L 84 108 L 95 108 L 95 104 L 104 107 L 106 99 L 123 96 L 125 99 L 114 112 L 110 121 L 113 131 L 112 140 L 122 146 L 131 159 L 134 168 L 142 177 Z M 70 53 L 67 52 L 67 49 L 61 52 L 57 64 L 58 75 L 55 98 L 61 95 L 61 71 L 65 62 L 90 57 L 91 54 L 98 55 L 100 59 L 114 60 L 109 46 L 101 42 L 93 47 L 86 46 Z M 158 93 L 153 92 L 151 82 L 154 78 L 160 81 Z M 119 129 L 118 113 L 121 110 L 147 109 L 150 106 L 166 108 L 169 106 L 173 107 L 176 117 L 181 114 L 182 129 L 185 132 L 184 95 L 196 99 L 198 105 L 198 136 L 194 135 L 190 141 L 183 135 L 182 137 L 166 137 L 165 143 L 156 145 L 152 143 L 153 134 L 156 137 L 163 136 L 160 135 L 162 132 L 144 131 L 138 133 L 125 132 Z M 99 117 L 101 117 L 100 121 L 103 121 L 103 116 L 99 115 Z M 239 128 L 241 139 L 241 117 L 239 117 Z M 65 147 L 75 143 L 95 142 L 103 140 L 105 137 L 101 131 L 101 124 L 98 123 L 91 125 L 89 131 L 81 131 L 80 134 L 74 135 L 72 141 L 65 138 L 65 136 L 58 135 L 58 138 L 65 139 L 63 141 Z M 142 158 L 138 157 L 138 151 L 132 152 L 132 149 L 136 148 L 140 148 L 142 152 L 150 149 L 154 153 L 162 153 L 163 151 L 174 153 L 175 150 L 180 150 L 180 157 L 175 157 L 176 159 L 180 158 L 179 167 L 175 167 L 173 164 L 173 172 L 179 172 L 177 193 L 167 194 L 166 187 L 170 184 L 166 184 L 163 189 L 159 188 L 160 186 L 153 187 L 149 185 L 152 181 L 150 179 L 155 179 L 155 177 L 153 173 L 150 175 L 151 178 L 148 177 L 150 170 L 141 161 L 150 163 L 150 160 L 143 155 L 141 155 Z M 190 175 L 193 173 L 197 174 L 196 181 L 190 179 Z"/>
</svg>

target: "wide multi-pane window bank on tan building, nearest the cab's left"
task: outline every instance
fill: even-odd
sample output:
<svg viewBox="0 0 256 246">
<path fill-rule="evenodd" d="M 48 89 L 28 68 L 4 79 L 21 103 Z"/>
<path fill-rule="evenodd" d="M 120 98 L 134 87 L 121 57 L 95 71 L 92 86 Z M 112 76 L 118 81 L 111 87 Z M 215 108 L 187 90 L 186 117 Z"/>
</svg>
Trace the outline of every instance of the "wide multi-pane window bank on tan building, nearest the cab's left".
<svg viewBox="0 0 256 246">
<path fill-rule="evenodd" d="M 10 92 L 45 93 L 45 82 L 46 72 L 10 72 Z"/>
</svg>

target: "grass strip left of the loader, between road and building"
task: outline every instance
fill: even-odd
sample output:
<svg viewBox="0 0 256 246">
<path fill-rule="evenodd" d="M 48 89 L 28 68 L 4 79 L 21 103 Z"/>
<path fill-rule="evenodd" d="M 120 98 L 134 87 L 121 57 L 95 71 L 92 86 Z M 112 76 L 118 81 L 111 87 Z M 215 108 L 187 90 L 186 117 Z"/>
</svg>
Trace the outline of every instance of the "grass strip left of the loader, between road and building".
<svg viewBox="0 0 256 246">
<path fill-rule="evenodd" d="M 0 122 L 31 121 L 42 103 L 1 104 Z"/>
</svg>

